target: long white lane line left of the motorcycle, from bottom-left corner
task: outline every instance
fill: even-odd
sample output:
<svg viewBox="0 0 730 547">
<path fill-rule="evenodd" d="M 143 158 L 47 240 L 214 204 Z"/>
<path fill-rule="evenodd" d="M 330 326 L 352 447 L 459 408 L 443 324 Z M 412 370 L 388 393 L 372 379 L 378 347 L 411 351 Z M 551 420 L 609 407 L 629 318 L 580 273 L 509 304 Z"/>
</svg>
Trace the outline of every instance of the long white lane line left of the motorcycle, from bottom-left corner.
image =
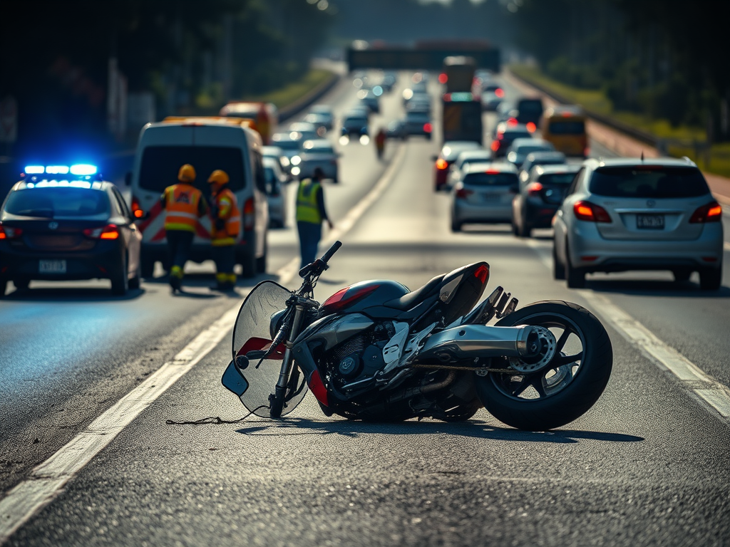
<svg viewBox="0 0 730 547">
<path fill-rule="evenodd" d="M 391 165 L 358 204 L 338 222 L 337 227 L 328 234 L 325 244 L 341 238 L 366 212 L 385 188 L 390 185 L 393 174 L 399 168 L 405 155 L 401 146 Z M 288 283 L 299 271 L 299 258 L 277 271 L 282 284 Z M 213 325 L 200 333 L 188 346 L 178 353 L 172 361 L 147 378 L 122 397 L 112 408 L 95 419 L 85 430 L 74 437 L 66 446 L 38 465 L 25 481 L 10 490 L 0 500 L 0 545 L 10 538 L 28 519 L 45 505 L 49 504 L 64 486 L 88 462 L 99 454 L 114 438 L 148 406 L 155 402 L 172 384 L 182 378 L 203 357 L 217 346 L 228 334 L 236 320 L 240 304 L 226 311 Z"/>
</svg>

